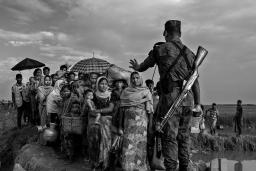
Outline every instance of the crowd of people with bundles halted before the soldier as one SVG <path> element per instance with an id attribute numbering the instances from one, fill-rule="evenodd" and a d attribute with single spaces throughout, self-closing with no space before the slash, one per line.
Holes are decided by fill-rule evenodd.
<path id="1" fill-rule="evenodd" d="M 154 82 L 138 72 L 131 73 L 130 82 L 117 79 L 110 85 L 104 75 L 68 72 L 66 66 L 50 75 L 50 68 L 34 70 L 27 84 L 16 75 L 12 86 L 13 103 L 17 108 L 17 125 L 48 126 L 56 124 L 59 132 L 53 145 L 70 160 L 76 154 L 88 159 L 91 168 L 114 170 L 119 163 L 124 170 L 148 170 L 147 137 L 152 134 L 154 104 L 158 101 Z M 128 86 L 129 85 L 129 86 Z M 62 117 L 80 117 L 82 134 L 63 131 Z M 123 135 L 122 160 L 113 162 L 110 150 L 116 136 Z M 113 156 L 112 156 L 113 157 Z"/>

